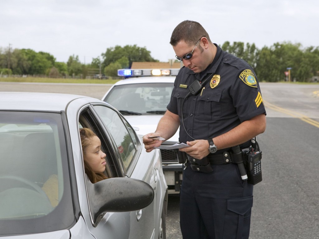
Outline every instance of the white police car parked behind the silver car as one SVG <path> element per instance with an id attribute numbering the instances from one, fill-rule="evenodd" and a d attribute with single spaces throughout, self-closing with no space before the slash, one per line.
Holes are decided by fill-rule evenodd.
<path id="1" fill-rule="evenodd" d="M 175 76 L 130 77 L 116 82 L 102 100 L 119 110 L 138 134 L 145 135 L 155 132 L 160 118 L 166 112 L 174 80 Z M 160 149 L 169 194 L 179 193 L 183 169 L 174 149 L 164 147 L 177 143 L 178 135 L 179 130 L 163 142 Z"/>

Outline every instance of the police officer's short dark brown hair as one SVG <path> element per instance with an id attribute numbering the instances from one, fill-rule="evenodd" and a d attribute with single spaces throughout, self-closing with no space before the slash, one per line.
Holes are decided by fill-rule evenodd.
<path id="1" fill-rule="evenodd" d="M 175 27 L 169 43 L 172 46 L 176 46 L 177 43 L 184 40 L 186 43 L 193 45 L 203 36 L 206 36 L 208 41 L 211 42 L 208 33 L 202 25 L 195 21 L 185 20 Z"/>

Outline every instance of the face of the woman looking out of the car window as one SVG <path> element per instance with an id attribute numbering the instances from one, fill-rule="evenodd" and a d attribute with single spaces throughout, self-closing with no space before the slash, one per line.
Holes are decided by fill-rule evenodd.
<path id="1" fill-rule="evenodd" d="M 106 154 L 101 150 L 101 141 L 99 137 L 93 136 L 91 144 L 86 148 L 84 152 L 84 160 L 90 165 L 93 172 L 102 173 L 105 170 Z"/>

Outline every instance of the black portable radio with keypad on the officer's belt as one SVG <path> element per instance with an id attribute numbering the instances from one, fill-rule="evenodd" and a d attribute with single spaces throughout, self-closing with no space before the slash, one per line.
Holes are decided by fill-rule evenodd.
<path id="1" fill-rule="evenodd" d="M 246 171 L 248 176 L 248 183 L 256 185 L 263 180 L 261 172 L 261 158 L 262 151 L 255 140 L 252 140 L 252 149 L 247 152 Z"/>

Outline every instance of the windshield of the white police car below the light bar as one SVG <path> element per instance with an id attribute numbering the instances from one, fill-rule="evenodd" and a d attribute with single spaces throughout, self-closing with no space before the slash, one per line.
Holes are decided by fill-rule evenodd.
<path id="1" fill-rule="evenodd" d="M 114 86 L 105 102 L 123 115 L 164 114 L 174 83 L 140 83 Z"/>

